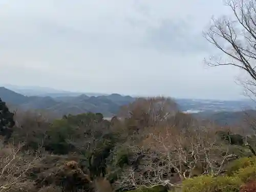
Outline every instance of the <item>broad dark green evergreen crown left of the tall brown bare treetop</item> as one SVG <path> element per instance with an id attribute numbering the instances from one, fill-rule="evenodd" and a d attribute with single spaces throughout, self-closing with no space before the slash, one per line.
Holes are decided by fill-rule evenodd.
<path id="1" fill-rule="evenodd" d="M 102 139 L 108 126 L 103 120 L 103 115 L 99 113 L 63 116 L 62 119 L 55 120 L 47 132 L 46 148 L 55 154 L 67 154 L 72 151 L 85 153 L 89 148 L 91 151 L 95 140 Z"/>

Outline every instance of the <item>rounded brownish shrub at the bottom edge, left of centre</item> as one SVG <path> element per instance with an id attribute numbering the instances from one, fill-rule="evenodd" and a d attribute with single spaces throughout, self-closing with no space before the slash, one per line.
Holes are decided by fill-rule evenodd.
<path id="1" fill-rule="evenodd" d="M 90 176 L 83 172 L 76 161 L 68 160 L 65 156 L 48 155 L 34 167 L 33 173 L 38 186 L 56 186 L 63 191 L 91 191 Z"/>

